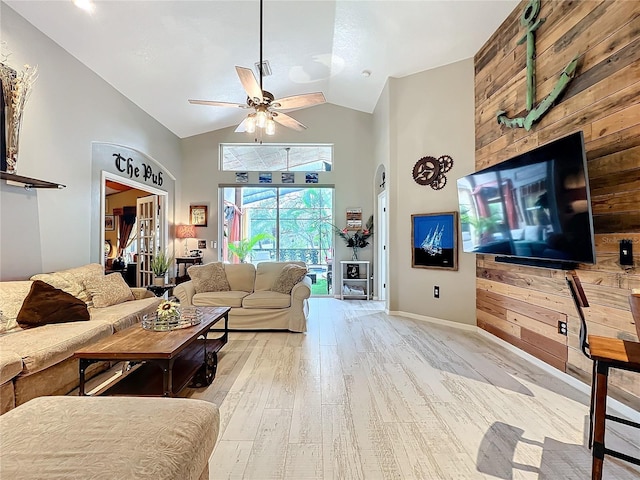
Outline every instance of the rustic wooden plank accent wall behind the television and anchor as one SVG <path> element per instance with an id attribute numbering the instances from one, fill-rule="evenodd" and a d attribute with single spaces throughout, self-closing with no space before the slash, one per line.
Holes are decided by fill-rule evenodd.
<path id="1" fill-rule="evenodd" d="M 638 340 L 629 311 L 640 288 L 640 2 L 542 0 L 536 33 L 536 104 L 560 72 L 580 55 L 564 96 L 530 131 L 506 128 L 496 112 L 525 112 L 526 46 L 522 1 L 475 56 L 476 169 L 582 130 L 587 150 L 596 233 L 595 265 L 578 276 L 591 308 L 589 333 Z M 619 241 L 634 243 L 634 268 L 619 265 Z M 495 262 L 477 256 L 477 322 L 488 332 L 582 380 L 591 362 L 579 349 L 580 324 L 564 272 Z M 568 336 L 557 332 L 568 321 Z M 640 406 L 640 378 L 616 371 L 612 394 Z"/>

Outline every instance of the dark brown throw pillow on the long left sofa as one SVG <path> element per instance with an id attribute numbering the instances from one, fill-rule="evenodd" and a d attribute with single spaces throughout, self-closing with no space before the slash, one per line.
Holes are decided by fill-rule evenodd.
<path id="1" fill-rule="evenodd" d="M 73 295 L 34 280 L 16 318 L 22 328 L 89 320 L 87 304 Z"/>

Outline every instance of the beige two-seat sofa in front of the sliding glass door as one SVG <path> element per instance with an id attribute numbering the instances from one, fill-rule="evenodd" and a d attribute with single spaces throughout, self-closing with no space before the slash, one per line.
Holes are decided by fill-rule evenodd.
<path id="1" fill-rule="evenodd" d="M 181 305 L 231 307 L 230 329 L 306 332 L 311 280 L 305 276 L 289 295 L 271 290 L 287 264 L 306 267 L 302 262 L 261 262 L 257 267 L 251 263 L 224 264 L 231 290 L 196 293 L 190 280 L 174 288 L 173 294 Z"/>

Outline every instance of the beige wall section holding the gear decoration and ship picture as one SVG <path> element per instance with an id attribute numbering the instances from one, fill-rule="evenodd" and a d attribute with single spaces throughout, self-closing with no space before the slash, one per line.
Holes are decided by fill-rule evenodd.
<path id="1" fill-rule="evenodd" d="M 411 268 L 411 215 L 458 210 L 456 179 L 474 171 L 473 59 L 389 86 L 389 309 L 475 324 L 475 256 L 460 251 L 459 232 L 458 271 Z M 412 179 L 415 162 L 427 155 L 454 160 L 442 190 Z"/>

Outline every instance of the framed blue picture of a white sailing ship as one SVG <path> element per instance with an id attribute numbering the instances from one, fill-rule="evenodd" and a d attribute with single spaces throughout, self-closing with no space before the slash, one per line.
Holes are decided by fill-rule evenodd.
<path id="1" fill-rule="evenodd" d="M 411 267 L 458 270 L 458 212 L 411 215 Z"/>

